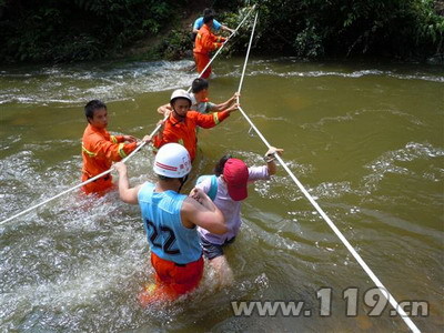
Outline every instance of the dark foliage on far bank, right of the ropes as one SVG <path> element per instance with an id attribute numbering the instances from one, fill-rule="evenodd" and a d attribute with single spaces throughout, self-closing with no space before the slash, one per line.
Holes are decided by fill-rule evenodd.
<path id="1" fill-rule="evenodd" d="M 223 1 L 223 6 L 226 7 L 228 2 L 232 9 L 239 6 L 239 1 Z M 306 58 L 361 54 L 402 59 L 441 57 L 443 61 L 444 1 L 246 2 L 260 8 L 256 48 L 263 51 Z"/>

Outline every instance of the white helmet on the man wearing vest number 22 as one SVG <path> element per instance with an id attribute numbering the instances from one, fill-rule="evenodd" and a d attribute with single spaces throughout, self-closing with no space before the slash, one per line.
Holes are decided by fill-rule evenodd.
<path id="1" fill-rule="evenodd" d="M 182 178 L 191 171 L 190 154 L 179 143 L 167 143 L 159 149 L 153 170 L 168 178 Z"/>

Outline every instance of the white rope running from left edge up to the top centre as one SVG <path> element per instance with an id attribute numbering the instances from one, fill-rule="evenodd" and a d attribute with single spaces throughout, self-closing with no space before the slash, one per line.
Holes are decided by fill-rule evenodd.
<path id="1" fill-rule="evenodd" d="M 222 44 L 222 47 L 218 50 L 218 52 L 215 52 L 215 54 L 213 56 L 213 58 L 211 58 L 210 62 L 209 62 L 209 63 L 206 64 L 206 67 L 202 70 L 202 72 L 199 74 L 199 78 L 202 77 L 202 74 L 205 72 L 205 70 L 209 68 L 209 65 L 210 65 L 210 64 L 213 62 L 213 60 L 219 56 L 219 53 L 221 52 L 221 50 L 223 49 L 223 47 L 226 44 L 226 42 L 236 33 L 236 31 L 239 30 L 239 28 L 241 28 L 241 26 L 243 24 L 243 22 L 245 22 L 246 18 L 252 13 L 252 11 L 254 10 L 254 8 L 255 8 L 255 4 L 250 9 L 250 11 L 249 11 L 249 12 L 246 13 L 246 16 L 243 18 L 243 20 L 239 23 L 238 28 L 230 34 L 230 37 L 229 37 L 229 38 L 226 39 L 226 41 Z M 188 89 L 188 92 L 190 92 L 190 90 L 191 90 L 191 87 Z M 167 118 L 163 119 L 162 123 L 163 123 L 165 120 L 167 120 Z M 152 131 L 152 133 L 150 134 L 150 137 L 153 137 L 153 135 L 160 130 L 160 128 L 162 127 L 162 123 L 160 123 L 160 124 L 158 124 L 158 125 L 155 127 L 154 131 Z M 142 147 L 145 145 L 145 144 L 147 144 L 147 142 L 142 142 L 134 151 L 132 151 L 127 158 L 124 158 L 124 159 L 122 160 L 122 162 L 123 162 L 123 163 L 127 162 L 131 157 L 134 155 L 135 152 L 138 152 L 140 149 L 142 149 Z M 44 200 L 44 201 L 42 201 L 42 202 L 40 202 L 40 203 L 33 205 L 33 206 L 30 206 L 29 209 L 26 209 L 24 211 L 21 211 L 20 213 L 17 213 L 16 215 L 12 215 L 12 216 L 10 216 L 10 218 L 8 218 L 8 219 L 1 221 L 1 222 L 0 222 L 0 225 L 7 223 L 7 222 L 9 222 L 9 221 L 11 221 L 11 220 L 13 220 L 13 219 L 16 219 L 16 218 L 18 218 L 18 216 L 21 216 L 21 215 L 23 215 L 23 214 L 26 214 L 26 213 L 28 213 L 28 212 L 30 212 L 30 211 L 32 211 L 32 210 L 34 210 L 34 209 L 37 209 L 37 208 L 43 205 L 43 204 L 46 204 L 46 203 L 48 203 L 48 202 L 50 202 L 50 201 L 52 201 L 52 200 L 54 200 L 54 199 L 57 199 L 57 198 L 59 198 L 59 196 L 62 196 L 63 194 L 67 194 L 67 193 L 69 193 L 69 192 L 72 192 L 72 191 L 74 191 L 74 190 L 77 190 L 77 189 L 79 189 L 79 188 L 85 185 L 85 184 L 89 184 L 89 183 L 91 183 L 91 182 L 98 180 L 99 178 L 101 178 L 101 176 L 103 176 L 103 175 L 105 175 L 105 174 L 111 173 L 112 170 L 113 170 L 113 167 L 111 167 L 109 170 L 107 170 L 107 171 L 104 171 L 104 172 L 102 172 L 102 173 L 100 173 L 100 174 L 98 174 L 98 175 L 95 175 L 95 176 L 93 176 L 93 178 L 91 178 L 91 179 L 89 179 L 89 180 L 87 180 L 87 181 L 84 181 L 84 182 L 82 182 L 82 183 L 80 183 L 80 184 L 73 186 L 73 188 L 70 188 L 70 189 L 68 189 L 68 190 L 65 190 L 65 191 L 63 191 L 63 192 L 61 192 L 61 193 L 59 193 L 59 194 L 57 194 L 57 195 L 54 195 L 54 196 L 51 196 L 51 198 L 49 198 L 49 199 L 47 199 L 47 200 Z"/>

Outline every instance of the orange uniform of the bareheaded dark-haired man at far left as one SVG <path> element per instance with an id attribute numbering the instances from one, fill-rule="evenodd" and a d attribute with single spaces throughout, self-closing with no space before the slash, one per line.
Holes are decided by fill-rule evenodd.
<path id="1" fill-rule="evenodd" d="M 105 129 L 88 124 L 82 138 L 82 182 L 111 168 L 137 148 L 137 142 L 123 143 L 123 135 L 111 135 Z M 112 188 L 112 176 L 107 174 L 82 186 L 83 192 L 98 193 Z"/>

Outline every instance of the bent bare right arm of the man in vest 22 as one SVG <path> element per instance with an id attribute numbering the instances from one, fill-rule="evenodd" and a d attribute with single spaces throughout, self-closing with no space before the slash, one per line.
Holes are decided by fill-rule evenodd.
<path id="1" fill-rule="evenodd" d="M 199 225 L 215 234 L 225 233 L 228 229 L 222 212 L 202 190 L 193 191 L 193 198 L 186 198 L 183 202 L 182 223 L 188 228 Z"/>

